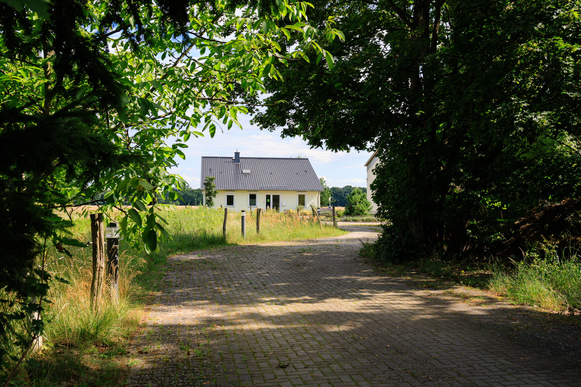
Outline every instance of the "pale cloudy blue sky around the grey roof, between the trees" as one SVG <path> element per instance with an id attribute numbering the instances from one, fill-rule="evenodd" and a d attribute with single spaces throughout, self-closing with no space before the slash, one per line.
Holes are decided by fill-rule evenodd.
<path id="1" fill-rule="evenodd" d="M 191 136 L 188 148 L 182 149 L 185 160 L 177 158 L 178 168 L 172 173 L 182 176 L 192 188 L 200 187 L 200 163 L 202 156 L 233 157 L 238 149 L 241 157 L 297 157 L 298 154 L 308 157 L 319 177 L 327 180 L 329 187 L 345 185 L 365 187 L 367 169 L 363 166 L 371 153 L 350 151 L 335 153 L 322 149 L 309 149 L 300 138 L 282 139 L 280 131 L 261 131 L 250 124 L 249 115 L 239 115 L 243 130 L 233 125 L 224 133 L 218 131 L 214 138 L 204 132 L 204 138 Z M 225 126 L 225 125 L 224 125 Z"/>

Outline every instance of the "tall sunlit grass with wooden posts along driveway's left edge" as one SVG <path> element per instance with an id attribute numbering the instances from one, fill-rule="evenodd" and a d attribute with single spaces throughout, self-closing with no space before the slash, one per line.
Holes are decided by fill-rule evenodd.
<path id="1" fill-rule="evenodd" d="M 132 365 L 126 353 L 128 339 L 139 327 L 145 296 L 157 288 L 162 266 L 169 256 L 220 245 L 254 244 L 338 236 L 347 232 L 316 223 L 309 214 L 281 215 L 266 211 L 261 216 L 260 233 L 256 233 L 256 213 L 246 216 L 246 239 L 241 234 L 241 216 L 230 212 L 227 235 L 223 238 L 223 210 L 186 208 L 163 211 L 167 232 L 172 236 L 160 245 L 158 252 L 145 254 L 120 243 L 119 298 L 112 301 L 103 293 L 98 310 L 89 305 L 92 280 L 92 248 L 70 248 L 72 258 L 56 249 L 48 251 L 46 269 L 66 278 L 70 284 L 53 282 L 45 303 L 43 319 L 47 321 L 44 348 L 30 356 L 21 366 L 14 382 L 34 387 L 60 386 L 63 382 L 82 386 L 116 386 L 123 384 Z M 72 216 L 70 236 L 90 241 L 90 223 L 78 214 Z M 120 219 L 117 219 L 120 220 Z M 0 294 L 2 298 L 9 295 Z M 16 327 L 23 331 L 24 326 Z M 18 354 L 18 348 L 14 348 Z M 12 363 L 15 364 L 15 363 Z M 31 366 L 32 365 L 32 366 Z M 6 371 L 6 370 L 5 370 Z"/>

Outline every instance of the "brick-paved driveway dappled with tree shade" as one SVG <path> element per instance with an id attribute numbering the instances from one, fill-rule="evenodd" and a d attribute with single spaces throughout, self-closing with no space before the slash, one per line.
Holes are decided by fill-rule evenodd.
<path id="1" fill-rule="evenodd" d="M 377 276 L 350 229 L 171 258 L 127 385 L 581 386 L 578 328 Z"/>

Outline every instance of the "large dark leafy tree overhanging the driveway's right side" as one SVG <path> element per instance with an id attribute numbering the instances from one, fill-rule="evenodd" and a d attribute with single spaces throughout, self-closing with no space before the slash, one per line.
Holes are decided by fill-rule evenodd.
<path id="1" fill-rule="evenodd" d="M 510 220 L 581 194 L 579 1 L 325 4 L 309 20 L 340 15 L 335 65 L 290 66 L 265 99 L 288 103 L 254 121 L 379 151 L 383 258 L 496 254 Z"/>

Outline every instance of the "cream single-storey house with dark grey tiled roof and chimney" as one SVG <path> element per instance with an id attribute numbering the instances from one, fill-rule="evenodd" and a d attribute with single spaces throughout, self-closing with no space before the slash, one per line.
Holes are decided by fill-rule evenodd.
<path id="1" fill-rule="evenodd" d="M 201 188 L 206 204 L 204 180 L 214 176 L 218 194 L 214 208 L 235 211 L 253 208 L 296 210 L 320 207 L 321 181 L 308 158 L 202 157 Z"/>

